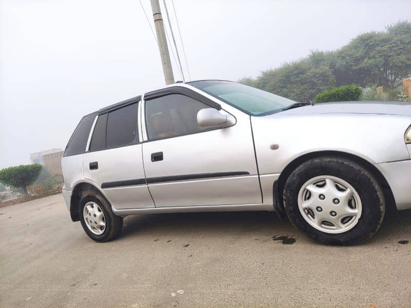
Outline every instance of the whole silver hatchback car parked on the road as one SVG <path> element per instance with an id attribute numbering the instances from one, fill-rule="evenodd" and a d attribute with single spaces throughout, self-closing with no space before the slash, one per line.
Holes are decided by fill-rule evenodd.
<path id="1" fill-rule="evenodd" d="M 95 241 L 123 217 L 276 211 L 358 244 L 411 208 L 411 105 L 297 103 L 234 82 L 177 83 L 85 115 L 62 159 L 73 221 Z"/>

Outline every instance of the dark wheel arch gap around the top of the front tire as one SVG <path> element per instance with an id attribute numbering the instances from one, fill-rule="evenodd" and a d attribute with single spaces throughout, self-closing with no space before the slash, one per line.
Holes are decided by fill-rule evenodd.
<path id="1" fill-rule="evenodd" d="M 278 215 L 280 217 L 285 216 L 285 211 L 284 211 L 284 204 L 282 200 L 282 190 L 284 189 L 285 182 L 289 178 L 289 176 L 292 174 L 292 172 L 303 162 L 313 159 L 313 158 L 320 158 L 320 157 L 339 157 L 339 158 L 344 158 L 344 159 L 349 159 L 352 160 L 353 162 L 361 165 L 365 169 L 367 169 L 371 174 L 376 178 L 378 184 L 381 186 L 384 194 L 384 199 L 385 199 L 385 204 L 386 204 L 386 210 L 388 211 L 394 211 L 397 210 L 396 204 L 395 204 L 395 199 L 394 199 L 394 194 L 392 194 L 391 187 L 389 186 L 387 180 L 381 173 L 381 171 L 371 164 L 369 161 L 366 159 L 353 155 L 351 153 L 347 152 L 342 152 L 342 151 L 333 151 L 333 150 L 325 150 L 325 151 L 315 151 L 315 152 L 310 152 L 306 153 L 304 155 L 301 155 L 294 160 L 292 160 L 285 168 L 281 171 L 280 176 L 278 177 L 278 180 L 274 183 L 274 208 L 277 211 Z"/>

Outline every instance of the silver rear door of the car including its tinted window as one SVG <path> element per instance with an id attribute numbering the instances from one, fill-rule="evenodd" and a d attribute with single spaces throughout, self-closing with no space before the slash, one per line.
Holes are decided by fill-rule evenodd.
<path id="1" fill-rule="evenodd" d="M 100 110 L 84 154 L 84 178 L 95 182 L 115 209 L 154 207 L 138 138 L 139 99 Z"/>

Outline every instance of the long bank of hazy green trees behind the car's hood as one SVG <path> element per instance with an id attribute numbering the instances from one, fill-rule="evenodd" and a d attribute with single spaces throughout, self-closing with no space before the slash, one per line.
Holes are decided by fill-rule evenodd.
<path id="1" fill-rule="evenodd" d="M 388 91 L 398 87 L 410 73 L 411 23 L 402 21 L 383 32 L 358 35 L 336 51 L 312 51 L 304 59 L 239 82 L 305 101 L 321 91 L 350 84 L 384 86 Z"/>

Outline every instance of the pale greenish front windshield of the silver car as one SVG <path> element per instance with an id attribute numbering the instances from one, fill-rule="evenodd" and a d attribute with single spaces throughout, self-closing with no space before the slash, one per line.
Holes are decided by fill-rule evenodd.
<path id="1" fill-rule="evenodd" d="M 295 101 L 235 82 L 206 80 L 189 85 L 216 97 L 250 115 L 265 115 L 281 111 Z"/>

